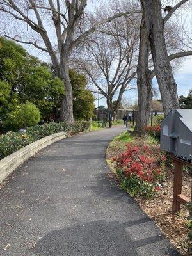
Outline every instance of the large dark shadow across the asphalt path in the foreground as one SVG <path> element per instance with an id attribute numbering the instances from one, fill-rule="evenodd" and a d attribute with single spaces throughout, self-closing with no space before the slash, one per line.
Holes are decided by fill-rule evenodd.
<path id="1" fill-rule="evenodd" d="M 150 219 L 143 218 L 123 224 L 99 220 L 54 230 L 42 237 L 33 248 L 32 253 L 36 256 L 137 256 L 140 255 L 138 248 L 141 246 L 156 244 L 155 248 L 157 248 L 159 243 L 166 239 L 164 236 L 156 235 L 132 241 L 125 228 L 147 221 Z M 162 253 L 162 256 L 167 253 L 168 255 L 177 255 L 172 248 Z M 150 255 L 156 255 L 156 252 L 153 250 L 146 256 Z"/>

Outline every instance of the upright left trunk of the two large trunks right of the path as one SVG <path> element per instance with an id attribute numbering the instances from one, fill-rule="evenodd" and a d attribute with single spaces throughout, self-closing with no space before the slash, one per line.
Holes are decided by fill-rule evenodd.
<path id="1" fill-rule="evenodd" d="M 140 49 L 137 67 L 137 87 L 138 87 L 138 113 L 136 117 L 136 127 L 134 133 L 145 134 L 150 109 L 152 104 L 152 80 L 148 70 L 149 44 L 145 26 L 145 18 L 142 16 L 140 26 Z"/>

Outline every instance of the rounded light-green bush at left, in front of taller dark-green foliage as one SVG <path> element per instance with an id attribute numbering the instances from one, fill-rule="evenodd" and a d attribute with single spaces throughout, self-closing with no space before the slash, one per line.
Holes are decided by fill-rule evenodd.
<path id="1" fill-rule="evenodd" d="M 20 104 L 17 109 L 8 113 L 5 126 L 13 131 L 24 129 L 28 126 L 38 124 L 40 121 L 40 111 L 31 102 Z"/>

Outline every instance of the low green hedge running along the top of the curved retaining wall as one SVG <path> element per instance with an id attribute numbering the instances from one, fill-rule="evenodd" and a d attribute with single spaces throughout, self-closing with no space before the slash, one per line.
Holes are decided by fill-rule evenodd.
<path id="1" fill-rule="evenodd" d="M 74 122 L 74 124 L 59 122 L 29 127 L 25 134 L 8 132 L 0 136 L 0 159 L 45 136 L 63 131 L 67 132 L 67 134 L 76 134 L 88 130 L 89 127 L 90 122 L 86 121 L 78 121 Z"/>

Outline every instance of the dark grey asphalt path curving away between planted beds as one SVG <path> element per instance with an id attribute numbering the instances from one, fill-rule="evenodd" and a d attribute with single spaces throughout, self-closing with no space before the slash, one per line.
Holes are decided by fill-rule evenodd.
<path id="1" fill-rule="evenodd" d="M 108 177 L 105 149 L 122 131 L 58 141 L 15 170 L 1 189 L 0 255 L 179 255 Z"/>

